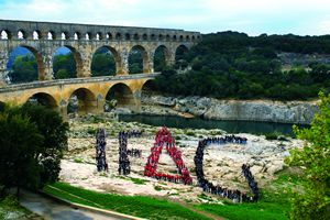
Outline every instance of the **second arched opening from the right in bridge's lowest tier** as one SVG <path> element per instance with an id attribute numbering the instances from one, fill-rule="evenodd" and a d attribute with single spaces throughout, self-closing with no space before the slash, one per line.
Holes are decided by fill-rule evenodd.
<path id="1" fill-rule="evenodd" d="M 97 98 L 96 96 L 86 88 L 79 88 L 75 90 L 67 105 L 67 113 L 94 113 L 97 110 Z"/>

